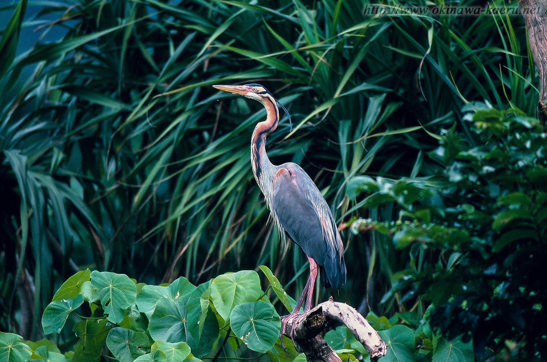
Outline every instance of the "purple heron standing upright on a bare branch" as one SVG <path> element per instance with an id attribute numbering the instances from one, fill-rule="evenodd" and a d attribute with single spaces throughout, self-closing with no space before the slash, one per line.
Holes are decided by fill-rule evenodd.
<path id="1" fill-rule="evenodd" d="M 277 128 L 280 120 L 275 97 L 260 84 L 213 87 L 257 100 L 266 108 L 266 120 L 259 122 L 253 131 L 251 165 L 281 234 L 286 233 L 300 246 L 310 261 L 310 277 L 289 316 L 299 313 L 306 296 L 304 312 L 309 311 L 318 271 L 324 288 L 337 289 L 346 284 L 342 240 L 333 214 L 315 183 L 299 165 L 287 162 L 277 166 L 266 154 L 266 136 Z M 287 112 L 285 107 L 283 110 Z"/>

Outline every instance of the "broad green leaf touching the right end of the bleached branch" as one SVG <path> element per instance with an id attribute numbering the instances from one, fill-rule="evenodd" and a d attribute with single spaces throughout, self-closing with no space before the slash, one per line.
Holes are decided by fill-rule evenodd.
<path id="1" fill-rule="evenodd" d="M 378 334 L 387 344 L 383 362 L 414 362 L 414 332 L 409 327 L 398 324 Z"/>

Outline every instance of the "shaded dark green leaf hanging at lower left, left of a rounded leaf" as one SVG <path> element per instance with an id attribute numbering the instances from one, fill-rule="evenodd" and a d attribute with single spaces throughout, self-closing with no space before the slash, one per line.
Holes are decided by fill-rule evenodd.
<path id="1" fill-rule="evenodd" d="M 74 355 L 71 362 L 98 362 L 106 341 L 108 331 L 112 326 L 107 326 L 106 318 L 86 319 L 74 325 L 73 331 L 80 337 L 74 347 Z"/>

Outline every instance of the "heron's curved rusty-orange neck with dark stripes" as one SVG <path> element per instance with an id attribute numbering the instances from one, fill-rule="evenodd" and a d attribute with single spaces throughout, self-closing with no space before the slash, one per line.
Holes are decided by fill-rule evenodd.
<path id="1" fill-rule="evenodd" d="M 266 136 L 277 128 L 279 110 L 275 100 L 267 98 L 262 103 L 266 107 L 267 117 L 264 122 L 258 123 L 257 127 L 254 128 L 251 139 L 251 165 L 254 178 L 257 180 L 262 193 L 264 193 L 266 201 L 270 203 L 271 188 L 277 169 L 266 154 Z"/>

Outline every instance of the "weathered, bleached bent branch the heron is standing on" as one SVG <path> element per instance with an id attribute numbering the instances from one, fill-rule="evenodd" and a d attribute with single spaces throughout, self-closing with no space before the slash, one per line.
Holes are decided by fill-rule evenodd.
<path id="1" fill-rule="evenodd" d="M 334 350 L 319 336 L 319 333 L 336 322 L 344 324 L 363 344 L 371 361 L 386 354 L 386 343 L 368 321 L 355 308 L 333 302 L 332 297 L 304 314 L 287 318 L 286 322 L 282 334 L 301 348 L 309 362 L 341 362 Z"/>

